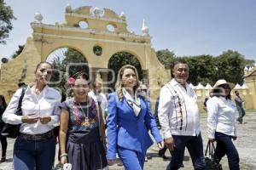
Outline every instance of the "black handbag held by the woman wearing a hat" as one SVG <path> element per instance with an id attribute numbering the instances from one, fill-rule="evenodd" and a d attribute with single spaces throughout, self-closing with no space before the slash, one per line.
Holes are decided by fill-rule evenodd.
<path id="1" fill-rule="evenodd" d="M 214 156 L 215 146 L 212 141 L 208 141 L 207 150 L 205 152 L 206 170 L 222 170 L 221 164 Z"/>

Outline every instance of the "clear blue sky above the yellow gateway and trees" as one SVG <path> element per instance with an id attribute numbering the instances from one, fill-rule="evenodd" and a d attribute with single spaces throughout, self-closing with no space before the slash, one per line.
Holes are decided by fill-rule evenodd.
<path id="1" fill-rule="evenodd" d="M 129 31 L 141 35 L 143 19 L 156 50 L 169 48 L 177 56 L 212 54 L 236 50 L 256 60 L 256 1 L 254 0 L 5 0 L 17 20 L 7 45 L 0 45 L 0 58 L 9 57 L 32 36 L 34 14 L 43 23 L 64 21 L 67 3 L 72 8 L 110 8 L 126 15 Z"/>

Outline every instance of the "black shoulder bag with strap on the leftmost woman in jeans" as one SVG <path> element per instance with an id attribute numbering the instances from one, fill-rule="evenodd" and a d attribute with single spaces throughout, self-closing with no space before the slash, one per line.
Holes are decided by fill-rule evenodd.
<path id="1" fill-rule="evenodd" d="M 21 103 L 22 103 L 22 99 L 24 97 L 25 91 L 26 91 L 26 87 L 22 88 L 20 99 L 19 99 L 19 104 L 18 104 L 17 110 L 15 112 L 15 114 L 17 116 L 22 115 Z M 3 129 L 1 131 L 1 135 L 6 138 L 15 139 L 15 138 L 17 138 L 19 131 L 20 131 L 20 124 L 13 125 L 13 124 L 5 123 L 3 126 Z"/>

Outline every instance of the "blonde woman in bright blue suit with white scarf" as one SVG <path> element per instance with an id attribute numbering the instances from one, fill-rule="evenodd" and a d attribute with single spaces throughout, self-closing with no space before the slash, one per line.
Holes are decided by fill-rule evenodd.
<path id="1" fill-rule="evenodd" d="M 118 153 L 126 170 L 143 169 L 146 151 L 153 144 L 148 130 L 160 149 L 164 145 L 147 101 L 136 93 L 139 85 L 136 68 L 124 65 L 116 92 L 108 95 L 108 164 L 113 165 Z"/>

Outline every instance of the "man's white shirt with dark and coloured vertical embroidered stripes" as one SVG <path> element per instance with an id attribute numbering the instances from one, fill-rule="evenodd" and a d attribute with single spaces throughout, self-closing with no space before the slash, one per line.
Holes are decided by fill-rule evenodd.
<path id="1" fill-rule="evenodd" d="M 195 136 L 200 133 L 196 100 L 189 84 L 186 83 L 185 89 L 174 78 L 161 88 L 158 116 L 164 139 L 172 135 Z"/>

